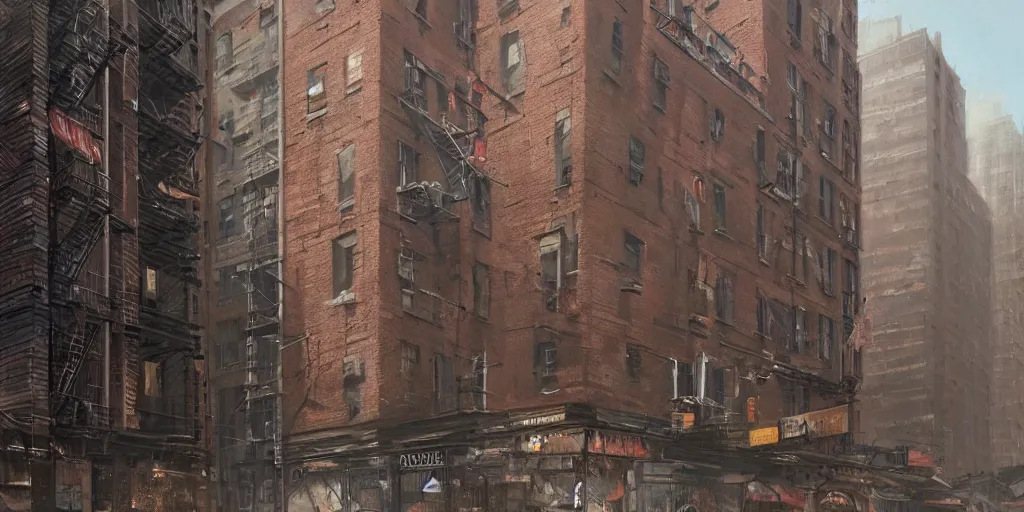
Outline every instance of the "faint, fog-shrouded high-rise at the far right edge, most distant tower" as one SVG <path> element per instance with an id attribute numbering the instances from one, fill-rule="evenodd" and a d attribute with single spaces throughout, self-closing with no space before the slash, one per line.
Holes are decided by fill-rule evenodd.
<path id="1" fill-rule="evenodd" d="M 1024 137 L 998 100 L 969 102 L 971 180 L 992 214 L 992 454 L 1024 462 Z"/>

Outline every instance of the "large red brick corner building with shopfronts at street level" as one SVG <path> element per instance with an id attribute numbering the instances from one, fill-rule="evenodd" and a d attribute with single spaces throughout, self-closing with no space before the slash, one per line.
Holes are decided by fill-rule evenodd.
<path id="1" fill-rule="evenodd" d="M 547 463 L 459 461 L 524 447 L 849 444 L 856 5 L 682 3 L 286 0 L 289 510 L 513 503 Z M 622 499 L 567 460 L 548 498 Z"/>

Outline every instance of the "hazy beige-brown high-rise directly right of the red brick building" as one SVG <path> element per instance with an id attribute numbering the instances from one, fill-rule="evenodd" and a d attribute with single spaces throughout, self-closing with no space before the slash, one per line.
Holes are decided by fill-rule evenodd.
<path id="1" fill-rule="evenodd" d="M 968 177 L 965 92 L 938 34 L 862 27 L 879 42 L 860 55 L 863 441 L 929 451 L 949 475 L 988 470 L 992 231 Z"/>

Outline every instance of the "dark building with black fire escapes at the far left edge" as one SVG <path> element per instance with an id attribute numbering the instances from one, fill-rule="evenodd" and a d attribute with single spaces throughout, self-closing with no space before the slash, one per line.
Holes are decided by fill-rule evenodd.
<path id="1" fill-rule="evenodd" d="M 0 4 L 0 510 L 202 510 L 193 0 Z"/>

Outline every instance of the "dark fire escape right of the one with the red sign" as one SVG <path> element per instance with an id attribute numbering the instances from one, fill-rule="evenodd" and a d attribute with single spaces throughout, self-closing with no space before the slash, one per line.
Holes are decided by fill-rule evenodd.
<path id="1" fill-rule="evenodd" d="M 197 8 L 191 0 L 139 0 L 138 6 L 138 356 L 147 367 L 147 389 L 138 400 L 139 426 L 196 441 L 201 416 L 193 360 L 200 349 L 195 309 L 196 290 L 202 285 L 196 211 L 196 154 L 201 143 L 196 126 L 202 105 L 196 93 L 203 87 Z M 151 379 L 157 382 L 153 390 Z"/>

